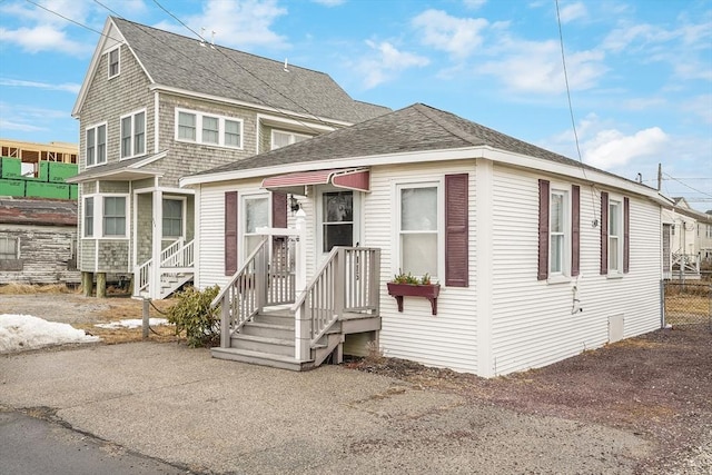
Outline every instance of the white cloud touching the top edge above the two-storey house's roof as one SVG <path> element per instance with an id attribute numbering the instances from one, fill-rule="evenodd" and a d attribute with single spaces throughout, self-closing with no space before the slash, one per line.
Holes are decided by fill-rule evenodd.
<path id="1" fill-rule="evenodd" d="M 245 49 L 253 46 L 285 48 L 286 38 L 271 30 L 271 23 L 287 13 L 276 0 L 207 0 L 202 13 L 181 20 L 194 31 L 211 40 L 215 31 L 216 44 Z M 189 34 L 182 26 L 161 22 L 156 28 Z"/>

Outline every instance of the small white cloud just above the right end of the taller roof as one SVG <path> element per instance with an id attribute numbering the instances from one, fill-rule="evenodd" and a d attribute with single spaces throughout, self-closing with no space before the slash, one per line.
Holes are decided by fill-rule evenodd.
<path id="1" fill-rule="evenodd" d="M 398 51 L 388 41 L 376 43 L 368 40 L 366 44 L 372 48 L 375 55 L 363 58 L 356 66 L 364 76 L 366 89 L 375 88 L 408 68 L 424 67 L 429 63 L 429 60 L 423 56 Z"/>

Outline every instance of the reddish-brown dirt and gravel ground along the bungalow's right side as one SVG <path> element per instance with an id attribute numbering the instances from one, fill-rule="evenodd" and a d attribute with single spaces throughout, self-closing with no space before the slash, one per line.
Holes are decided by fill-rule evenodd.
<path id="1" fill-rule="evenodd" d="M 662 329 L 493 379 L 397 358 L 347 365 L 527 414 L 595 422 L 643 435 L 657 445 L 660 455 L 642 461 L 640 473 L 670 473 L 701 446 L 709 451 L 712 331 L 708 326 Z"/>

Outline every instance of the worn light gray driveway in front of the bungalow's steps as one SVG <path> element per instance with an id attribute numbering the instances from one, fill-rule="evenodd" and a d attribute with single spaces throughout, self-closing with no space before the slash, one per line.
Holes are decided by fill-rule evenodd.
<path id="1" fill-rule="evenodd" d="M 176 344 L 0 356 L 0 406 L 53 408 L 77 431 L 194 473 L 625 474 L 651 451 L 630 433 L 397 379 L 290 373 Z"/>

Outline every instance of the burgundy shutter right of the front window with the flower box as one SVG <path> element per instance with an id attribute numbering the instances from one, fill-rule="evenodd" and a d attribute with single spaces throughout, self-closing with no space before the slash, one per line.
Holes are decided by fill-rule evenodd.
<path id="1" fill-rule="evenodd" d="M 445 175 L 445 285 L 469 285 L 468 175 Z"/>

